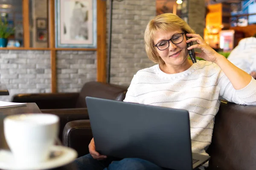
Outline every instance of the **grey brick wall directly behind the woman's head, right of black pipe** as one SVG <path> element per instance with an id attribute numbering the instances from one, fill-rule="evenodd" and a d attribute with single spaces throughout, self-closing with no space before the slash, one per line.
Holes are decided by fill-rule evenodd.
<path id="1" fill-rule="evenodd" d="M 111 83 L 130 85 L 138 70 L 154 65 L 145 53 L 143 34 L 155 15 L 155 0 L 113 1 Z"/>

